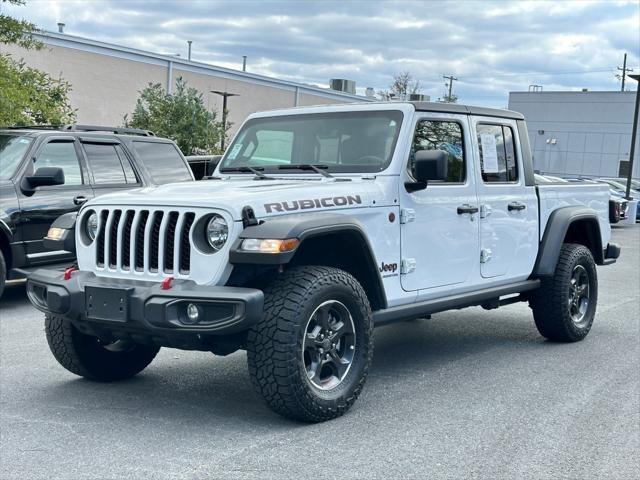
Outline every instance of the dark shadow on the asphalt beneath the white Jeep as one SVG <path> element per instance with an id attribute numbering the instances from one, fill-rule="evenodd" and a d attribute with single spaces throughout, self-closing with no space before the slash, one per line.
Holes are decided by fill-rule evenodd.
<path id="1" fill-rule="evenodd" d="M 474 316 L 458 313 L 455 318 L 448 315 L 443 320 L 407 322 L 376 330 L 374 363 L 365 394 L 384 388 L 391 381 L 425 381 L 430 371 L 435 373 L 446 368 L 447 363 L 465 357 L 472 362 L 474 356 L 486 350 L 534 350 L 547 343 L 522 322 L 502 318 L 497 328 L 495 319 L 473 322 Z M 190 353 L 187 360 L 182 360 L 182 352 L 176 350 L 174 363 L 169 357 L 171 353 L 163 352 L 161 361 L 156 360 L 131 380 L 119 383 L 64 380 L 65 373 L 61 370 L 60 381 L 49 383 L 40 393 L 49 405 L 133 415 L 144 412 L 149 418 L 210 428 L 231 426 L 234 422 L 287 429 L 304 426 L 275 415 L 254 393 L 243 352 L 229 357 Z"/>

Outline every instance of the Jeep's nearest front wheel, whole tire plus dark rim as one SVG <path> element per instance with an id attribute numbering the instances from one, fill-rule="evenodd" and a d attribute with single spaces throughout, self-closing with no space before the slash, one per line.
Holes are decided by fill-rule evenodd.
<path id="1" fill-rule="evenodd" d="M 249 374 L 280 415 L 321 422 L 355 402 L 373 356 L 371 307 L 350 274 L 294 267 L 265 290 L 247 339 Z"/>

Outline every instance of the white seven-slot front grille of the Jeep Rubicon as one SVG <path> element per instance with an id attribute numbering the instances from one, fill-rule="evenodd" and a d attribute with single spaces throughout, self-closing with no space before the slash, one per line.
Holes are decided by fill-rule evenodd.
<path id="1" fill-rule="evenodd" d="M 105 209 L 98 218 L 99 268 L 107 265 L 111 270 L 189 274 L 193 212 Z"/>

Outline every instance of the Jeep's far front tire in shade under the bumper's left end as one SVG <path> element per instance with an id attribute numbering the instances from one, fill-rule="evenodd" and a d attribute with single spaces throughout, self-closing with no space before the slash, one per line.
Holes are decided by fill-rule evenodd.
<path id="1" fill-rule="evenodd" d="M 71 373 L 110 382 L 133 377 L 151 363 L 160 347 L 129 344 L 121 351 L 105 348 L 98 338 L 81 333 L 69 320 L 46 315 L 45 331 L 51 353 Z"/>

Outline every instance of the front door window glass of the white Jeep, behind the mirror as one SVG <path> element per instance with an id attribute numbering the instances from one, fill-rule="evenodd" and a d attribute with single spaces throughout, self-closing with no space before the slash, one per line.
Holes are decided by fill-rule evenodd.
<path id="1" fill-rule="evenodd" d="M 420 120 L 411 144 L 409 172 L 420 150 L 443 150 L 447 154 L 447 183 L 463 183 L 466 177 L 462 125 L 442 120 Z"/>

